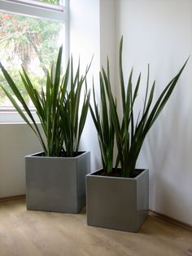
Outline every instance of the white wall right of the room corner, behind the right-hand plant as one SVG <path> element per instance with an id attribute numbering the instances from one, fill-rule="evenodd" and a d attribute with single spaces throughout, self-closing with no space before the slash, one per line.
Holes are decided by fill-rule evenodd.
<path id="1" fill-rule="evenodd" d="M 156 80 L 157 97 L 192 53 L 192 1 L 120 0 L 116 10 L 117 41 L 124 35 L 124 71 L 133 66 L 136 74 L 142 71 L 145 82 L 147 64 L 151 64 L 151 82 Z M 192 60 L 137 161 L 138 167 L 150 170 L 150 209 L 190 225 L 191 70 Z"/>

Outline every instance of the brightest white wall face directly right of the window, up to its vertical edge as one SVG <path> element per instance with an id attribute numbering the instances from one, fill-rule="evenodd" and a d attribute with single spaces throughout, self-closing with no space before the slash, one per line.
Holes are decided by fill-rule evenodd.
<path id="1" fill-rule="evenodd" d="M 81 71 L 90 63 L 94 55 L 88 74 L 88 86 L 92 88 L 92 77 L 98 81 L 100 68 L 100 27 L 98 0 L 70 1 L 70 52 L 78 61 L 81 59 Z M 88 114 L 85 130 L 81 138 L 80 149 L 91 152 L 91 170 L 101 166 L 98 149 L 98 139 L 93 121 Z"/>

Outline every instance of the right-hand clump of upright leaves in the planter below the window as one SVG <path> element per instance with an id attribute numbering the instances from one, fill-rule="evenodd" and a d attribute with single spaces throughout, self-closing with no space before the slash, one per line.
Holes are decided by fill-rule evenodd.
<path id="1" fill-rule="evenodd" d="M 71 56 L 68 61 L 65 77 L 63 77 L 62 80 L 63 88 L 60 95 L 61 99 L 63 99 L 63 104 L 60 104 L 60 119 L 63 132 L 64 152 L 67 157 L 73 157 L 78 151 L 82 131 L 85 127 L 90 97 L 90 92 L 86 91 L 86 86 L 84 87 L 87 73 L 88 69 L 86 68 L 85 74 L 80 74 L 80 60 L 76 71 L 74 71 Z M 82 99 L 83 89 L 85 89 L 85 95 Z"/>

